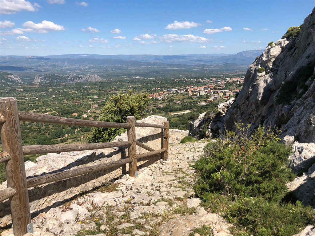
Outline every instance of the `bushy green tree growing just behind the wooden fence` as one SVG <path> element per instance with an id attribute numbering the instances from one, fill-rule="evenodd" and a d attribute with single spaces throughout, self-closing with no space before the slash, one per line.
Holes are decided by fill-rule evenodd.
<path id="1" fill-rule="evenodd" d="M 99 121 L 126 123 L 127 116 L 133 115 L 136 120 L 143 118 L 149 103 L 148 93 L 128 93 L 113 95 L 102 108 Z M 89 135 L 89 143 L 111 142 L 124 132 L 122 128 L 94 128 Z"/>

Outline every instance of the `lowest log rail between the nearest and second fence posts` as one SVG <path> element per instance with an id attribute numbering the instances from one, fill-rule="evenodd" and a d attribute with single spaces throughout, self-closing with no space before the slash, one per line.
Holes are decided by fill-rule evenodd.
<path id="1" fill-rule="evenodd" d="M 132 159 L 126 158 L 123 160 L 111 161 L 108 163 L 99 164 L 95 166 L 86 166 L 86 167 L 82 167 L 82 168 L 78 168 L 74 170 L 62 171 L 62 172 L 57 172 L 53 174 L 33 177 L 33 178 L 27 179 L 27 187 L 31 188 L 31 187 L 35 187 L 35 186 L 42 185 L 45 183 L 51 183 L 58 180 L 63 180 L 63 179 L 79 176 L 79 175 L 94 173 L 95 171 L 104 171 L 104 170 L 108 170 L 114 167 L 125 165 L 130 162 L 132 162 Z"/>

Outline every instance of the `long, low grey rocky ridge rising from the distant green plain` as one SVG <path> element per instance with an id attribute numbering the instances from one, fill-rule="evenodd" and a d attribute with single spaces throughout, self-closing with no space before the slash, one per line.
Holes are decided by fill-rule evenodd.
<path id="1" fill-rule="evenodd" d="M 76 82 L 99 82 L 106 79 L 97 75 L 59 75 L 42 74 L 35 76 L 34 84 L 39 83 L 76 83 Z"/>

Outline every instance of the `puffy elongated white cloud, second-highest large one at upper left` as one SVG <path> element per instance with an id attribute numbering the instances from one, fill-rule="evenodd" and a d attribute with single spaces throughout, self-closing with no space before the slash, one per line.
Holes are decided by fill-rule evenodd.
<path id="1" fill-rule="evenodd" d="M 20 29 L 22 31 L 31 31 L 36 33 L 47 33 L 48 31 L 63 31 L 65 27 L 57 25 L 54 22 L 43 20 L 42 23 L 34 23 L 32 21 L 26 21 L 23 24 L 26 29 Z"/>

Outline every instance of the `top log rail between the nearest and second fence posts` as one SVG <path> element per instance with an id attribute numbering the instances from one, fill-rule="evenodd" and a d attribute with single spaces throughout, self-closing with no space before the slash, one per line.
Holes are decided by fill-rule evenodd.
<path id="1" fill-rule="evenodd" d="M 20 121 L 41 122 L 57 125 L 72 125 L 85 127 L 102 127 L 102 128 L 129 128 L 126 123 L 114 123 L 104 121 L 86 121 L 80 119 L 66 118 L 54 115 L 43 115 L 30 112 L 19 111 Z"/>

